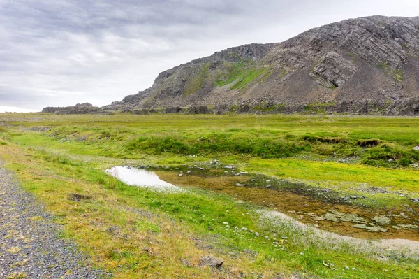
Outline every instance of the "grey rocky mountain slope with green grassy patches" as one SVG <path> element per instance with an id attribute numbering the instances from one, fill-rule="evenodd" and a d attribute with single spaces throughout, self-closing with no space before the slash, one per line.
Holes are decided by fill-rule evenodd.
<path id="1" fill-rule="evenodd" d="M 174 106 L 418 114 L 419 17 L 362 17 L 228 48 L 163 71 L 103 109 Z"/>

